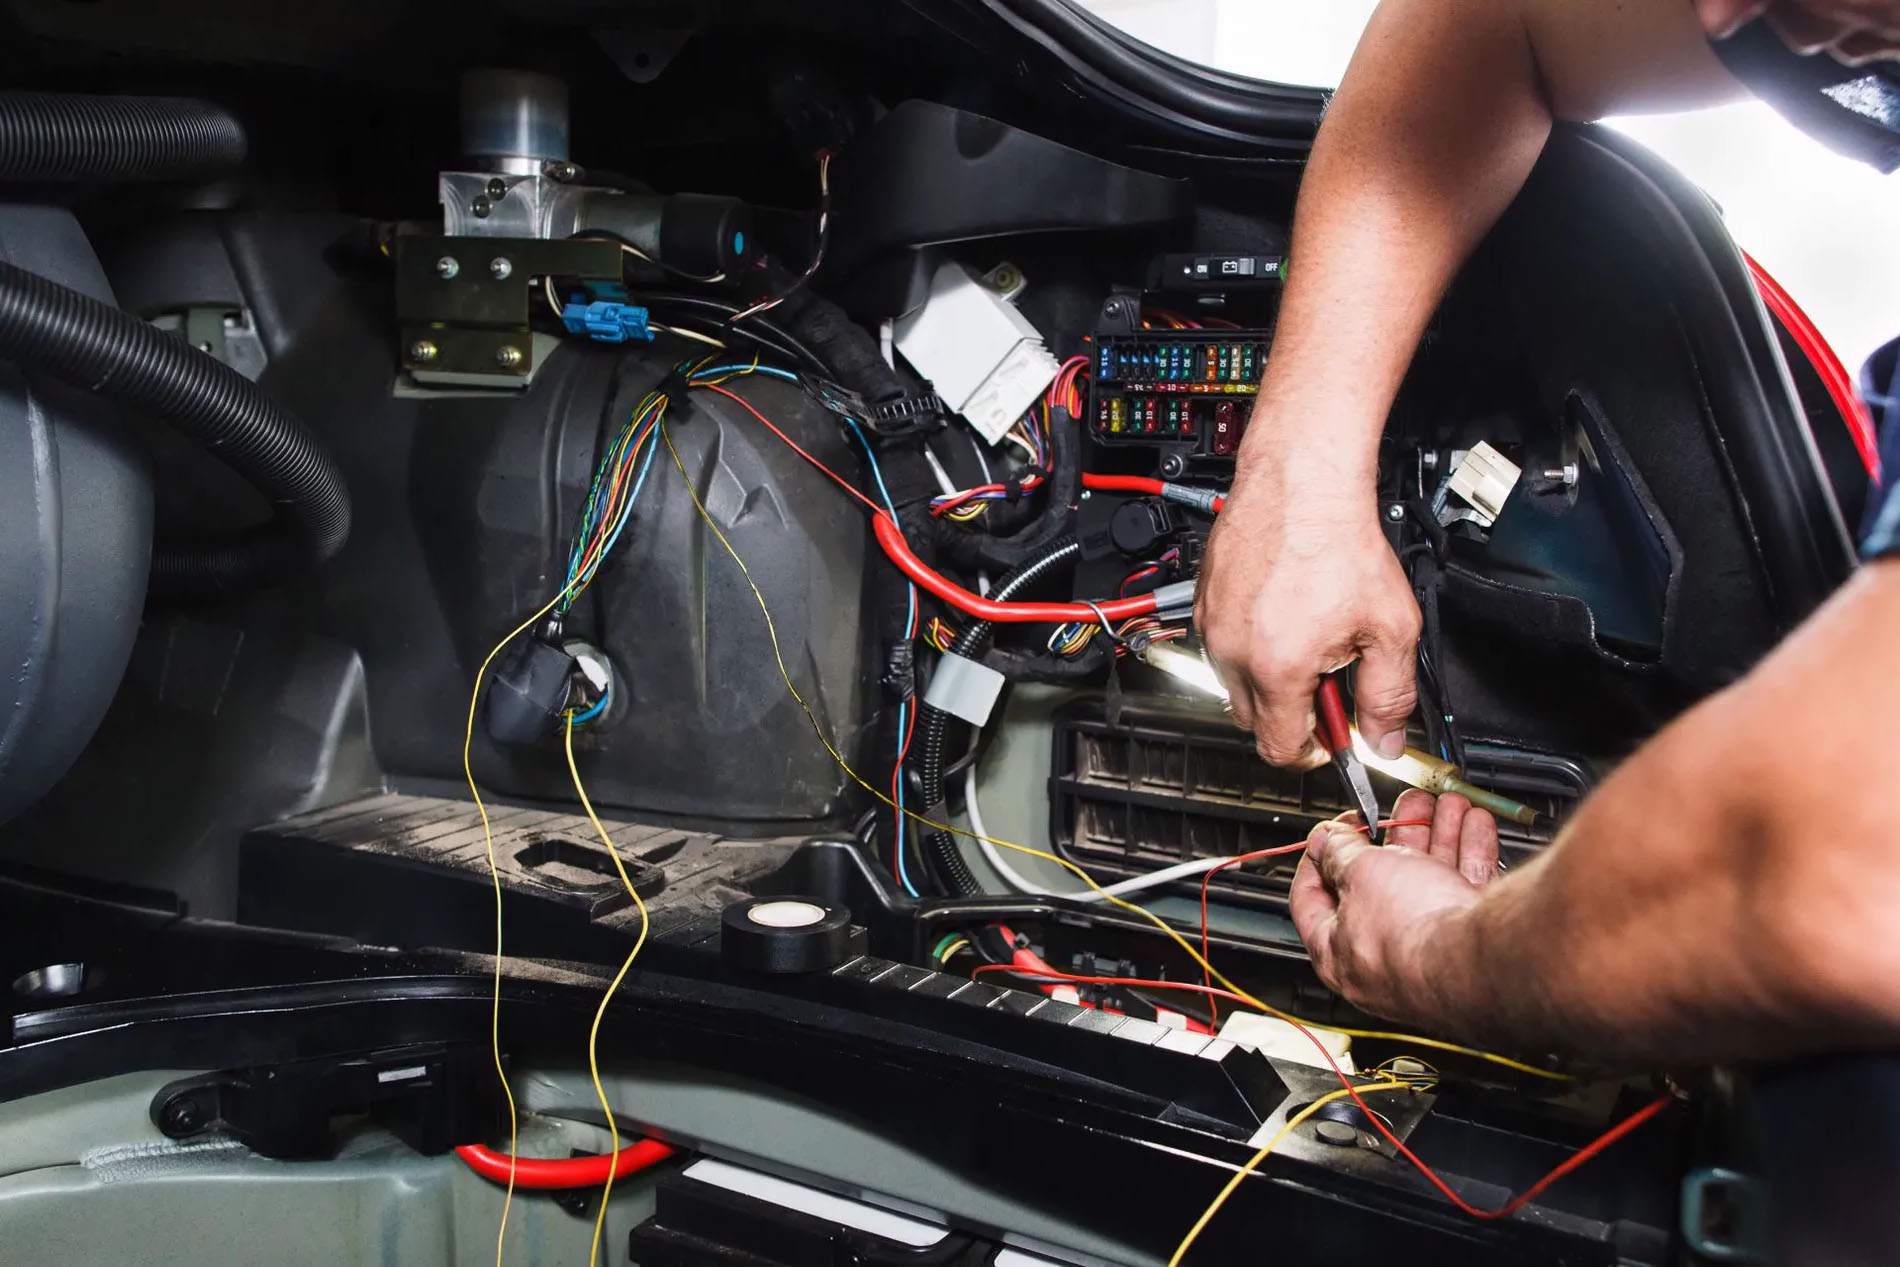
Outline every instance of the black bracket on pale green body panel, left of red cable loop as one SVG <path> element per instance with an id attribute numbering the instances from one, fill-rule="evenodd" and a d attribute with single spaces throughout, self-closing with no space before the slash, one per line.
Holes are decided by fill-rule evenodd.
<path id="1" fill-rule="evenodd" d="M 486 1047 L 428 1043 L 184 1077 L 152 1096 L 152 1125 L 171 1140 L 218 1132 L 310 1161 L 336 1155 L 332 1119 L 365 1115 L 435 1155 L 486 1134 L 494 1085 Z"/>

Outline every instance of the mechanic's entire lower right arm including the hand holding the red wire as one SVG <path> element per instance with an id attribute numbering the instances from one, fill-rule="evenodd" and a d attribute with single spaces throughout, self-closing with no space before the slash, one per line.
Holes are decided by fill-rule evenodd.
<path id="1" fill-rule="evenodd" d="M 1463 830 L 1436 857 L 1317 832 L 1294 881 L 1315 967 L 1370 1011 L 1528 1050 L 1697 1062 L 1894 1041 L 1894 646 L 1887 560 L 1490 883 L 1495 826 L 1454 798 L 1440 819 Z M 1429 804 L 1412 796 L 1400 815 Z"/>

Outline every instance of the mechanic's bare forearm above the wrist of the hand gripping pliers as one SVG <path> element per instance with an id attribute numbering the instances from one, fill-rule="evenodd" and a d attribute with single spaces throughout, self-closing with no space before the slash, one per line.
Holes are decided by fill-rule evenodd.
<path id="1" fill-rule="evenodd" d="M 1550 131 L 1505 0 L 1385 0 L 1313 144 L 1241 477 L 1277 460 L 1372 496 L 1425 321 Z"/>

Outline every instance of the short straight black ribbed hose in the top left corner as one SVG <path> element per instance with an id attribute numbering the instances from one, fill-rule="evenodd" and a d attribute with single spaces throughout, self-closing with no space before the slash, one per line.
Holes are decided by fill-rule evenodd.
<path id="1" fill-rule="evenodd" d="M 0 93 L 0 180 L 179 180 L 243 156 L 243 125 L 209 101 Z"/>

